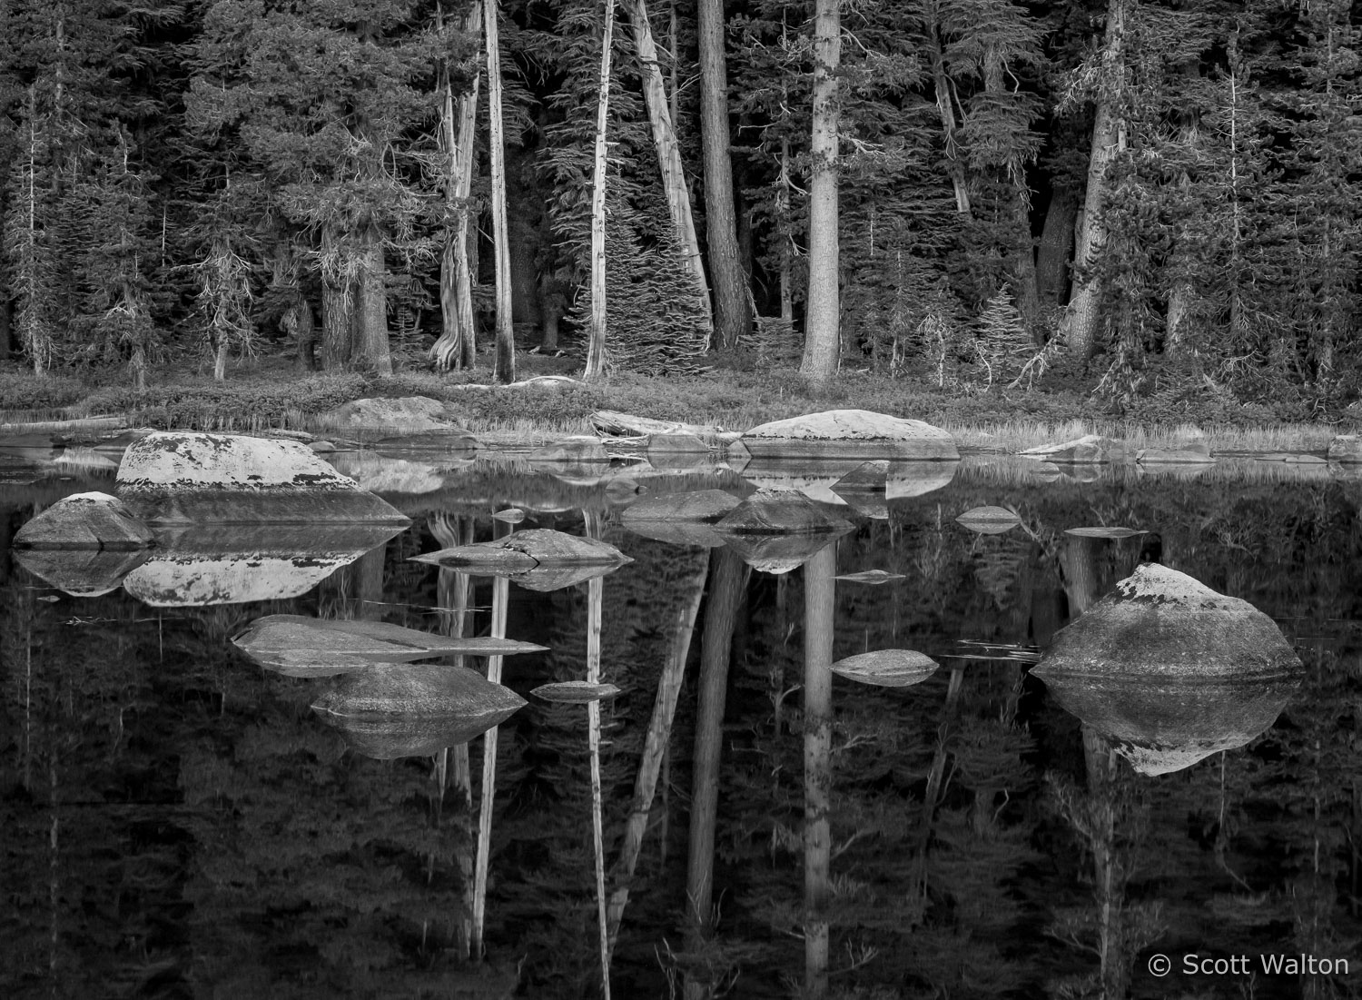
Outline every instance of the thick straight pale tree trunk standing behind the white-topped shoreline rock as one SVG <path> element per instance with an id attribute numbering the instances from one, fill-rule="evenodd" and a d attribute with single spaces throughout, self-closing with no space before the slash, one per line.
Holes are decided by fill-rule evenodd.
<path id="1" fill-rule="evenodd" d="M 842 59 L 840 0 L 817 0 L 813 15 L 813 165 L 809 178 L 809 297 L 799 372 L 814 384 L 838 371 L 838 64 Z"/>

